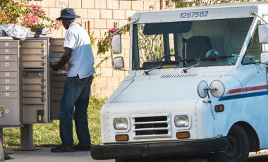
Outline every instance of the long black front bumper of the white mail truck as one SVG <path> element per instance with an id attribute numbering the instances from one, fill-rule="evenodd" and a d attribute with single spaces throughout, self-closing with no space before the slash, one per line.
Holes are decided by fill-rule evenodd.
<path id="1" fill-rule="evenodd" d="M 92 147 L 91 156 L 96 160 L 113 158 L 150 158 L 159 156 L 178 156 L 206 154 L 228 149 L 226 137 L 215 139 L 196 139 L 169 142 L 105 144 Z"/>

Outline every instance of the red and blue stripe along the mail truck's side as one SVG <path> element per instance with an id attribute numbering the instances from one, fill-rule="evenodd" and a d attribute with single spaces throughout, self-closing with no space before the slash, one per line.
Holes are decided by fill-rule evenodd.
<path id="1" fill-rule="evenodd" d="M 267 85 L 260 85 L 255 87 L 244 87 L 237 89 L 230 89 L 224 96 L 219 98 L 219 101 L 225 101 L 230 99 L 243 99 L 252 96 L 264 96 L 267 95 Z"/>

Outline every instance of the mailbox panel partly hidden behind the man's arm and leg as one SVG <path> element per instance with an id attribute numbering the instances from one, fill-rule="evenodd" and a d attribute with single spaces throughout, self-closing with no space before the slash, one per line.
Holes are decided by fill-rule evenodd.
<path id="1" fill-rule="evenodd" d="M 64 53 L 63 49 L 64 39 L 51 39 L 51 56 L 61 57 Z M 64 82 L 66 81 L 66 71 L 54 72 L 50 71 L 50 110 L 51 120 L 59 119 L 59 106 L 61 104 L 61 98 L 63 95 Z"/>

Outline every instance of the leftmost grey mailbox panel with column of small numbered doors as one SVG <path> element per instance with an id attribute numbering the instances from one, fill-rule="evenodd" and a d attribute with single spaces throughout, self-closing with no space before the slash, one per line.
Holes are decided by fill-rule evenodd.
<path id="1" fill-rule="evenodd" d="M 0 40 L 0 126 L 20 125 L 19 42 Z"/>

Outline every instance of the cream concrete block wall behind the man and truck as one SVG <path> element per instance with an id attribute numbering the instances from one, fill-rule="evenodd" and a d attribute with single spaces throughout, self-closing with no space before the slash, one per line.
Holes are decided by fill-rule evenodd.
<path id="1" fill-rule="evenodd" d="M 42 6 L 45 13 L 50 18 L 58 18 L 61 9 L 70 7 L 75 9 L 75 13 L 80 15 L 78 22 L 87 28 L 90 33 L 94 32 L 95 45 L 92 46 L 95 56 L 95 65 L 102 61 L 110 53 L 97 55 L 97 42 L 104 37 L 104 33 L 114 27 L 114 22 L 118 27 L 126 24 L 128 17 L 137 11 L 159 10 L 160 0 L 42 0 L 30 1 L 30 4 Z M 89 21 L 89 23 L 88 23 Z M 88 25 L 90 24 L 90 25 Z M 64 37 L 66 30 L 53 30 L 54 37 Z M 123 35 L 123 52 L 125 66 L 129 68 L 129 35 Z M 123 78 L 128 75 L 128 71 L 113 70 L 111 58 L 104 61 L 97 69 L 99 76 L 92 83 L 92 93 L 100 97 L 109 97 L 118 87 Z"/>

